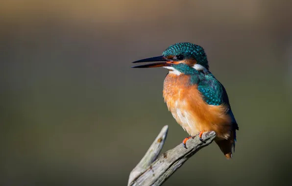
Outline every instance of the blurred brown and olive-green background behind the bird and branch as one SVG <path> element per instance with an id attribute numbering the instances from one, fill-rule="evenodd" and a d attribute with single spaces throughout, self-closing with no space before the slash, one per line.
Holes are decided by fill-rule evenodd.
<path id="1" fill-rule="evenodd" d="M 203 46 L 239 123 L 234 158 L 213 143 L 166 186 L 291 184 L 292 2 L 10 0 L 0 3 L 0 185 L 126 185 L 164 125 L 165 69 L 132 61 Z"/>

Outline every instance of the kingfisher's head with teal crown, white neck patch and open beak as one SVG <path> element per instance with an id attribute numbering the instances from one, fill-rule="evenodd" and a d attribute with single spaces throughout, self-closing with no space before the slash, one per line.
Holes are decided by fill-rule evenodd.
<path id="1" fill-rule="evenodd" d="M 151 57 L 133 63 L 157 62 L 133 68 L 164 67 L 174 73 L 186 73 L 191 69 L 208 71 L 207 55 L 201 46 L 192 43 L 176 43 L 169 46 L 162 56 Z"/>

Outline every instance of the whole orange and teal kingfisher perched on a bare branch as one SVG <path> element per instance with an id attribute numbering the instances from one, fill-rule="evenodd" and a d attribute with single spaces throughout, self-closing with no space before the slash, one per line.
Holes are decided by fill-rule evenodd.
<path id="1" fill-rule="evenodd" d="M 133 63 L 156 62 L 132 68 L 162 67 L 169 70 L 163 84 L 163 97 L 169 111 L 190 135 L 186 141 L 202 140 L 202 134 L 215 131 L 215 142 L 227 159 L 235 151 L 238 124 L 231 111 L 228 95 L 223 85 L 209 70 L 203 47 L 193 43 L 176 43 L 163 51 L 161 56 Z"/>

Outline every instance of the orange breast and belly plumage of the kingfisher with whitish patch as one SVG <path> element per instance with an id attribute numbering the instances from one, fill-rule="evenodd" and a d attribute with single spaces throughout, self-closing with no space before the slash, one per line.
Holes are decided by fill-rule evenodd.
<path id="1" fill-rule="evenodd" d="M 190 85 L 190 76 L 168 74 L 164 80 L 163 97 L 167 106 L 184 130 L 194 136 L 200 131 L 215 131 L 217 137 L 228 139 L 231 118 L 224 105 L 208 105 L 196 85 Z"/>

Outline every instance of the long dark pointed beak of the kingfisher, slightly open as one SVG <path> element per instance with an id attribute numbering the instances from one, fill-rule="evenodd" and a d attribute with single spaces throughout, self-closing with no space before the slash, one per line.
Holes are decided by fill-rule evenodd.
<path id="1" fill-rule="evenodd" d="M 159 62 L 161 61 L 161 62 Z M 142 62 L 158 62 L 158 63 L 151 63 L 147 65 L 139 65 L 135 66 L 132 68 L 153 68 L 153 67 L 168 67 L 171 64 L 173 64 L 173 61 L 170 59 L 165 58 L 163 55 L 162 56 L 157 56 L 157 57 L 150 57 L 146 59 L 141 59 L 138 61 L 134 61 L 133 63 L 142 63 Z"/>

